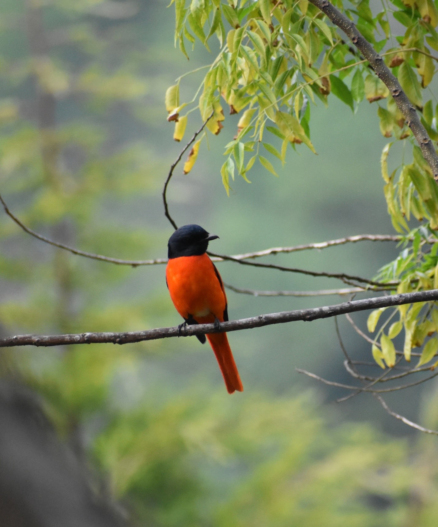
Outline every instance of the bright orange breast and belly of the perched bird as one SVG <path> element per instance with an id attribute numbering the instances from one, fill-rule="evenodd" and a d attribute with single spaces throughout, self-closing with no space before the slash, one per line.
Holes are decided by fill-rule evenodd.
<path id="1" fill-rule="evenodd" d="M 200 323 L 215 317 L 223 321 L 227 298 L 207 254 L 170 259 L 166 279 L 172 302 L 183 318 L 192 315 Z"/>

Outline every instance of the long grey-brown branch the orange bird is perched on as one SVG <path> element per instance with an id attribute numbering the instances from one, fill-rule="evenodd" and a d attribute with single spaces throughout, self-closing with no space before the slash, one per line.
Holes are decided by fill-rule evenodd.
<path id="1" fill-rule="evenodd" d="M 204 335 L 206 333 L 223 333 L 224 331 L 238 331 L 272 324 L 284 324 L 298 320 L 312 321 L 319 318 L 329 318 L 355 311 L 376 309 L 381 307 L 401 306 L 415 302 L 438 300 L 438 289 L 418 291 L 400 295 L 388 295 L 364 300 L 344 302 L 334 306 L 316 307 L 311 309 L 297 309 L 259 315 L 257 317 L 230 320 L 218 324 L 199 324 L 197 326 L 171 327 L 148 329 L 145 331 L 131 331 L 126 333 L 80 333 L 76 335 L 16 335 L 0 339 L 0 347 L 12 346 L 61 346 L 69 344 L 129 344 L 143 340 L 156 340 L 168 337 L 188 337 Z"/>

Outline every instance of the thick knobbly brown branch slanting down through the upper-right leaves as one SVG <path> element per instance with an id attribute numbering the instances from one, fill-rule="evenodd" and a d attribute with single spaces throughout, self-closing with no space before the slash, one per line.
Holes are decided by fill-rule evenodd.
<path id="1" fill-rule="evenodd" d="M 412 130 L 418 145 L 420 145 L 424 159 L 432 169 L 433 177 L 435 180 L 438 180 L 438 155 L 435 152 L 432 140 L 429 137 L 429 134 L 427 134 L 424 126 L 421 124 L 415 106 L 402 90 L 402 86 L 397 78 L 384 63 L 382 56 L 374 50 L 373 46 L 357 30 L 354 22 L 338 11 L 338 9 L 336 9 L 333 4 L 330 4 L 328 0 L 309 0 L 309 2 L 318 7 L 348 36 L 369 64 L 371 64 L 379 79 L 381 79 L 388 90 L 390 90 L 398 109 L 402 112 L 407 125 Z"/>

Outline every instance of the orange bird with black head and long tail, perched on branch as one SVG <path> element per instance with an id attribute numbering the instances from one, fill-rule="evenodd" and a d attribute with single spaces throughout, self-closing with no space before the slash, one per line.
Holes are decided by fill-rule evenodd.
<path id="1" fill-rule="evenodd" d="M 228 320 L 228 304 L 222 279 L 207 255 L 208 242 L 219 238 L 199 225 L 184 225 L 168 242 L 166 284 L 170 298 L 184 319 L 180 325 L 209 324 Z M 206 335 L 196 335 L 205 344 Z M 207 334 L 229 394 L 243 392 L 226 333 Z"/>

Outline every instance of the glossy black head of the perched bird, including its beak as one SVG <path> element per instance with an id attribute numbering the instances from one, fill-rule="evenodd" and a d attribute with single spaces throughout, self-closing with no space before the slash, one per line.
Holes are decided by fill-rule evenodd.
<path id="1" fill-rule="evenodd" d="M 208 242 L 219 236 L 210 235 L 199 225 L 184 225 L 169 238 L 168 258 L 180 256 L 200 256 L 206 252 Z"/>

